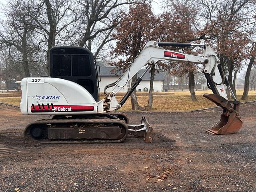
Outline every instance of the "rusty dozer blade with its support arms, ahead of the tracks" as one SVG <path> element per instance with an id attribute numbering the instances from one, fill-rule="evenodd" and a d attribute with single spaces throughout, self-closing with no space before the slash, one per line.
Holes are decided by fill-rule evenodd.
<path id="1" fill-rule="evenodd" d="M 141 124 L 129 125 L 128 134 L 135 135 L 137 137 L 144 137 L 146 143 L 151 143 L 152 138 L 150 137 L 153 128 L 148 123 L 145 116 L 141 119 Z"/>

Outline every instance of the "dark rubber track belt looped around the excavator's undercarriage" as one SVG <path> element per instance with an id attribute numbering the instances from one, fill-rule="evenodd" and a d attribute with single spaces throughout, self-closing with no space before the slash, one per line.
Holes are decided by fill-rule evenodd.
<path id="1" fill-rule="evenodd" d="M 90 124 L 108 124 L 108 123 L 114 123 L 114 124 L 120 124 L 123 128 L 125 128 L 126 133 L 124 134 L 124 137 L 118 140 L 35 140 L 31 136 L 29 137 L 28 134 L 26 134 L 27 129 L 32 124 L 52 124 L 52 123 L 90 123 Z M 116 142 L 122 142 L 126 139 L 128 134 L 128 127 L 127 124 L 124 123 L 122 120 L 114 120 L 114 119 L 42 119 L 34 121 L 26 126 L 26 129 L 24 131 L 24 137 L 25 139 L 34 144 L 42 143 L 42 144 L 76 144 L 76 143 L 116 143 Z"/>

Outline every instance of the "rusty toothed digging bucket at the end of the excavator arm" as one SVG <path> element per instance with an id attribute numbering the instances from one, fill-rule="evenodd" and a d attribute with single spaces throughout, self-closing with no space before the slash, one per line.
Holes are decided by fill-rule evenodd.
<path id="1" fill-rule="evenodd" d="M 228 101 L 217 94 L 204 94 L 204 97 L 223 109 L 220 121 L 206 130 L 207 133 L 213 135 L 233 134 L 241 129 L 243 122 L 238 113 L 239 101 Z M 233 104 L 233 106 L 231 104 Z"/>

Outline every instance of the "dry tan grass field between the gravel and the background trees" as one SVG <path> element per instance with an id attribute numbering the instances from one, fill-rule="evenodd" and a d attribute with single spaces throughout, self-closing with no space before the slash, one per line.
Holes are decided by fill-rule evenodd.
<path id="1" fill-rule="evenodd" d="M 159 93 L 159 92 L 158 92 Z M 189 91 L 176 91 L 170 92 L 170 95 L 154 95 L 152 110 L 158 111 L 190 111 L 202 108 L 208 108 L 216 106 L 213 102 L 203 97 L 204 93 L 212 93 L 211 90 L 196 91 L 196 98 L 198 102 L 192 102 Z M 243 90 L 237 91 L 238 100 L 242 97 Z M 146 106 L 148 103 L 148 96 L 137 96 L 138 102 L 141 106 Z M 101 97 L 103 99 L 104 97 Z M 122 96 L 117 96 L 118 100 L 121 100 Z M 256 100 L 256 91 L 250 91 L 247 100 L 240 100 L 241 102 Z M 15 106 L 20 105 L 20 97 L 3 97 L 0 98 L 0 102 L 12 104 Z M 120 111 L 130 111 L 131 100 L 130 98 L 122 106 Z"/>

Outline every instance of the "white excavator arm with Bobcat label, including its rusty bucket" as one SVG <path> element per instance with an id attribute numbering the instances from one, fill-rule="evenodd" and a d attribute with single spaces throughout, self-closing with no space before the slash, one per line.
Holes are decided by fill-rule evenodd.
<path id="1" fill-rule="evenodd" d="M 201 47 L 204 52 L 202 56 L 185 54 L 176 52 L 173 50 L 164 49 L 163 46 L 171 47 Z M 105 111 L 118 110 L 129 98 L 130 94 L 136 89 L 142 77 L 146 71 L 150 68 L 151 64 L 155 64 L 158 61 L 174 61 L 174 62 L 190 62 L 193 64 L 202 64 L 203 73 L 207 79 L 207 85 L 212 90 L 213 94 L 204 94 L 204 97 L 208 98 L 218 106 L 223 108 L 223 113 L 220 122 L 212 126 L 210 130 L 207 130 L 210 134 L 230 134 L 234 133 L 242 127 L 242 121 L 238 114 L 240 102 L 236 101 L 227 78 L 221 68 L 220 60 L 218 59 L 214 50 L 209 44 L 190 44 L 190 43 L 168 43 L 168 42 L 156 42 L 150 41 L 146 44 L 140 54 L 136 57 L 134 62 L 126 69 L 124 74 L 114 83 L 105 87 L 104 93 L 107 96 L 105 98 Z M 146 66 L 145 72 L 140 76 L 136 82 L 132 85 L 130 90 L 125 94 L 120 102 L 117 101 L 115 94 L 126 86 L 128 81 L 144 66 Z M 225 91 L 225 86 L 230 90 L 234 101 L 228 101 L 228 97 Z M 112 87 L 110 94 L 106 92 L 108 88 Z M 233 103 L 234 106 L 231 105 Z M 231 106 L 231 107 L 230 107 Z M 230 117 L 231 116 L 231 117 Z M 232 128 L 234 127 L 234 128 Z"/>

